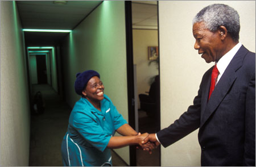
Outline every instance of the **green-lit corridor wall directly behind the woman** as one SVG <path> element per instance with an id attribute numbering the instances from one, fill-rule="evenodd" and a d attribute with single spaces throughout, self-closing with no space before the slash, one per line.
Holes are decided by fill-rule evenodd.
<path id="1" fill-rule="evenodd" d="M 128 121 L 125 2 L 103 1 L 73 30 L 61 46 L 65 100 L 73 107 L 76 73 L 96 70 L 105 94 Z M 115 149 L 129 164 L 129 147 Z"/>

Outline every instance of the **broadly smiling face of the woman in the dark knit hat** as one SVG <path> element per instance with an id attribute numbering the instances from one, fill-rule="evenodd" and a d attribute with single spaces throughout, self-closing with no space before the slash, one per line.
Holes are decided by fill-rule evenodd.
<path id="1" fill-rule="evenodd" d="M 100 78 L 97 76 L 90 78 L 82 94 L 89 102 L 98 102 L 104 99 L 104 85 Z"/>

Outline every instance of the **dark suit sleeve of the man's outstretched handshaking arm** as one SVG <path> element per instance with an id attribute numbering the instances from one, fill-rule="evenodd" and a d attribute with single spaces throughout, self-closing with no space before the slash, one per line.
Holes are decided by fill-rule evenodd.
<path id="1" fill-rule="evenodd" d="M 169 127 L 156 133 L 163 147 L 168 147 L 199 128 L 201 118 L 201 87 L 203 80 L 200 84 L 198 94 L 193 100 L 193 105 L 189 106 L 188 110 Z"/>

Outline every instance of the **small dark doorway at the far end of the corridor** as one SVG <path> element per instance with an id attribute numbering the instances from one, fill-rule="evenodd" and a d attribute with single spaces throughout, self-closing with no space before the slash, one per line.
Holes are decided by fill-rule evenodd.
<path id="1" fill-rule="evenodd" d="M 38 84 L 47 83 L 46 56 L 36 55 L 36 69 L 38 71 Z"/>

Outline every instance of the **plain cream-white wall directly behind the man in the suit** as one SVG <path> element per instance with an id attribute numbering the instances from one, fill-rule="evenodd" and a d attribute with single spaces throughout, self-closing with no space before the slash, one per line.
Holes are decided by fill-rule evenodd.
<path id="1" fill-rule="evenodd" d="M 197 95 L 207 64 L 193 49 L 192 19 L 203 7 L 225 3 L 240 14 L 240 41 L 255 52 L 255 1 L 159 1 L 161 128 L 179 118 Z M 162 166 L 200 166 L 198 130 L 161 148 Z"/>

